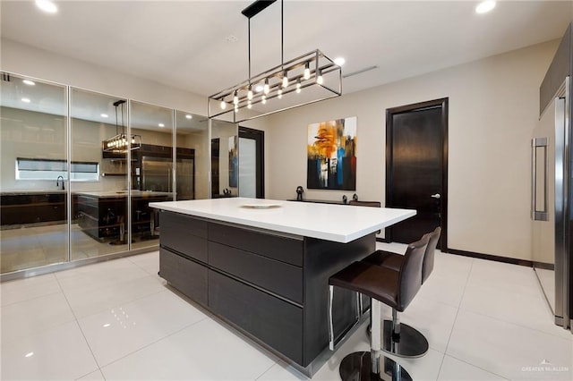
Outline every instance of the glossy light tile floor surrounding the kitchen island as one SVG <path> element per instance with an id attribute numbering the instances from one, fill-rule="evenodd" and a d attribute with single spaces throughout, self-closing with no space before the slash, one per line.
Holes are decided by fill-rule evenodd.
<path id="1" fill-rule="evenodd" d="M 0 378 L 305 379 L 157 273 L 155 251 L 0 284 Z M 553 325 L 536 282 L 531 268 L 437 253 L 432 276 L 402 314 L 430 351 L 395 360 L 415 380 L 572 380 L 573 334 Z M 368 349 L 364 328 L 312 379 L 338 380 L 346 353 Z"/>

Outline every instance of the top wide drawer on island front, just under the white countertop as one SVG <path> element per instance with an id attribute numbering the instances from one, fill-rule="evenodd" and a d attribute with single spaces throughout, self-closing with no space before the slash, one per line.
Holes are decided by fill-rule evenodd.
<path id="1" fill-rule="evenodd" d="M 303 267 L 304 241 L 225 224 L 209 224 L 209 240 Z"/>

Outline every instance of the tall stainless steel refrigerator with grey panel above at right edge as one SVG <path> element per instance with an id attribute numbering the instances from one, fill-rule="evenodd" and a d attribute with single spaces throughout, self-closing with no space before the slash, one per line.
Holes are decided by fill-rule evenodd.
<path id="1" fill-rule="evenodd" d="M 573 324 L 572 37 L 569 25 L 540 89 L 541 115 L 531 145 L 533 265 L 555 324 L 566 329 Z"/>

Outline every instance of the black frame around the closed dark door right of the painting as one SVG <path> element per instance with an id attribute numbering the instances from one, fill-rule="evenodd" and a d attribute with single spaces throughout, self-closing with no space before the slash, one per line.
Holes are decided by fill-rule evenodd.
<path id="1" fill-rule="evenodd" d="M 448 104 L 449 98 L 442 97 L 438 99 L 429 100 L 426 102 L 419 102 L 412 105 L 398 106 L 386 109 L 386 205 L 392 204 L 392 131 L 393 131 L 393 115 L 402 114 L 412 111 L 423 110 L 424 108 L 441 107 L 441 193 L 440 193 L 440 250 L 441 252 L 448 252 Z M 387 240 L 392 240 L 392 228 L 386 230 Z"/>

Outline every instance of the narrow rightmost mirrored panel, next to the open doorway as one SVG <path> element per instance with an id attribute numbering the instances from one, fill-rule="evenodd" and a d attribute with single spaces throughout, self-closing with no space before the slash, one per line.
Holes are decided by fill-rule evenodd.
<path id="1" fill-rule="evenodd" d="M 238 129 L 235 123 L 211 120 L 211 198 L 238 195 Z"/>

